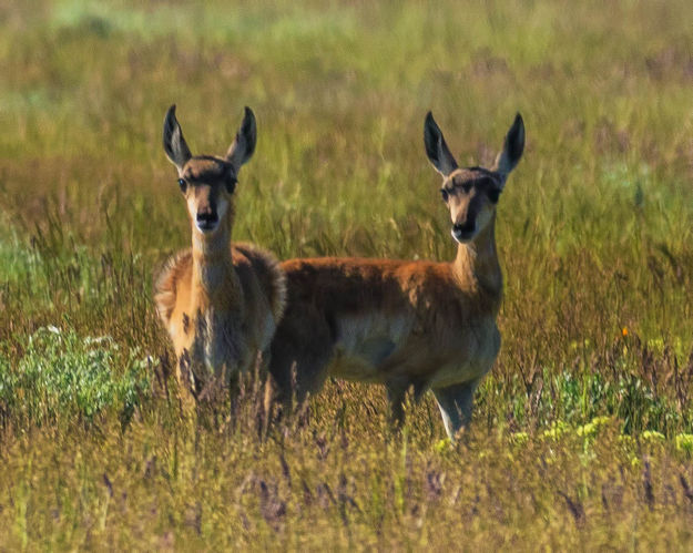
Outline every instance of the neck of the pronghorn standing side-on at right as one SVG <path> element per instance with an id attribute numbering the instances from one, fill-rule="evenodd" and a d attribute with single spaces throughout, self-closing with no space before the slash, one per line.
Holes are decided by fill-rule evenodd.
<path id="1" fill-rule="evenodd" d="M 496 214 L 469 244 L 458 244 L 453 270 L 465 287 L 478 288 L 498 307 L 503 276 L 496 249 Z"/>

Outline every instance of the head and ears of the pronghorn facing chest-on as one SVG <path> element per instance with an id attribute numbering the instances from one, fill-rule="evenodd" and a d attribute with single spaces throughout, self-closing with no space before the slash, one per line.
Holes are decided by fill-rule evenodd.
<path id="1" fill-rule="evenodd" d="M 169 107 L 164 120 L 164 151 L 179 170 L 179 186 L 187 203 L 193 232 L 213 235 L 221 222 L 233 223 L 233 193 L 241 166 L 255 151 L 257 129 L 249 107 L 235 140 L 224 157 L 192 155 L 183 131 L 175 119 L 175 105 Z"/>

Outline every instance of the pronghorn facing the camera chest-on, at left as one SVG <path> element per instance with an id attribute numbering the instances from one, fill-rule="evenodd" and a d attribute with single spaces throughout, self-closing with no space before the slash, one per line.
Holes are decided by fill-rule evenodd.
<path id="1" fill-rule="evenodd" d="M 268 346 L 284 311 L 284 273 L 267 252 L 231 244 L 238 171 L 255 151 L 255 116 L 243 124 L 224 157 L 193 156 L 175 119 L 164 121 L 164 150 L 177 167 L 187 205 L 192 249 L 172 257 L 155 285 L 159 315 L 173 340 L 179 378 L 200 391 L 206 377 L 247 370 Z"/>

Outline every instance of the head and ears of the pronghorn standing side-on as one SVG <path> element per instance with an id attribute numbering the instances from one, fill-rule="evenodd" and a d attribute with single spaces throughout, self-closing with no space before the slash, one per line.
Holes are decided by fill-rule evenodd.
<path id="1" fill-rule="evenodd" d="M 506 135 L 503 149 L 490 170 L 459 167 L 430 112 L 426 115 L 424 142 L 428 158 L 442 175 L 440 193 L 450 209 L 452 238 L 460 244 L 467 244 L 492 219 L 506 180 L 522 157 L 524 150 L 522 116 L 518 113 L 514 117 Z"/>

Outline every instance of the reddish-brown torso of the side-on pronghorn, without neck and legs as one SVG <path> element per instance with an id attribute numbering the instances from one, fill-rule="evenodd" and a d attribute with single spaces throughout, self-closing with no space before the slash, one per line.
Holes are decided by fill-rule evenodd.
<path id="1" fill-rule="evenodd" d="M 470 365 L 471 358 L 480 351 L 491 351 L 485 359 L 496 356 L 498 336 L 491 332 L 487 342 L 473 329 L 495 321 L 501 291 L 460 286 L 451 264 L 327 257 L 292 259 L 282 268 L 288 296 L 273 344 L 279 362 L 283 345 L 315 344 L 310 337 L 317 335 L 319 345 L 308 347 L 330 349 L 323 377 L 393 386 L 408 380 L 420 393 L 480 377 L 483 368 Z M 440 366 L 446 359 L 467 369 L 450 378 L 449 362 Z M 323 380 L 304 391 L 315 392 Z"/>

